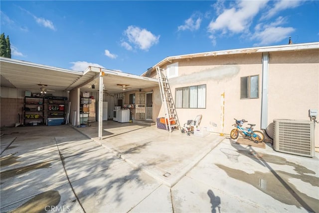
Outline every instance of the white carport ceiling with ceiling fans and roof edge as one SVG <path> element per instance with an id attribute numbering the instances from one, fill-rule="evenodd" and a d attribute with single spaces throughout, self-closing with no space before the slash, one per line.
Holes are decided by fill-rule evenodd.
<path id="1" fill-rule="evenodd" d="M 0 57 L 1 86 L 24 90 L 39 89 L 38 84 L 47 85 L 46 89 L 68 91 L 80 88 L 81 91 L 99 91 L 100 68 L 89 67 L 84 72 L 35 64 L 27 61 Z M 105 72 L 104 87 L 108 93 L 124 92 L 118 84 L 128 85 L 125 91 L 158 86 L 158 81 L 139 75 L 102 69 Z M 95 89 L 92 89 L 95 84 Z M 90 87 L 90 88 L 89 88 Z"/>

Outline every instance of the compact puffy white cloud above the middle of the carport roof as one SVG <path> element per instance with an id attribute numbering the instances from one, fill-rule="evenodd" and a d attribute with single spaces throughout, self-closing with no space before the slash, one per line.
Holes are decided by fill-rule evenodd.
<path id="1" fill-rule="evenodd" d="M 137 26 L 129 26 L 124 34 L 127 36 L 130 43 L 134 44 L 142 50 L 148 51 L 151 46 L 159 42 L 160 35 L 156 36 L 147 29 L 141 29 Z"/>

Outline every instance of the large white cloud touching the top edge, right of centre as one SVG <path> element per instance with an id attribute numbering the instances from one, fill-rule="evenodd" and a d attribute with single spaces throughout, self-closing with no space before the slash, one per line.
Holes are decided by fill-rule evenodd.
<path id="1" fill-rule="evenodd" d="M 231 31 L 233 33 L 243 32 L 249 29 L 251 20 L 266 5 L 266 0 L 243 0 L 232 8 L 224 11 L 212 20 L 208 25 L 208 31 L 221 30 L 222 33 Z"/>

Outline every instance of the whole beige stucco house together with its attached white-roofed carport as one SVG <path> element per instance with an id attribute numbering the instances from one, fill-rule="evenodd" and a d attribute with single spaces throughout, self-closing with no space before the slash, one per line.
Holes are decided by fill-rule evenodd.
<path id="1" fill-rule="evenodd" d="M 97 67 L 75 72 L 1 57 L 1 127 L 16 123 L 25 91 L 38 92 L 38 84 L 67 97 L 70 112 L 80 111 L 81 93 L 89 92 L 100 112 L 97 121 L 100 103 L 107 101 L 108 119 L 120 105 L 130 109 L 133 122 L 156 122 L 164 114 L 156 67 L 166 70 L 180 124 L 202 114 L 201 127 L 229 134 L 234 118 L 246 119 L 271 135 L 274 119 L 310 121 L 309 110 L 319 109 L 319 42 L 169 56 L 141 76 Z M 79 125 L 79 113 L 71 113 L 70 120 Z"/>

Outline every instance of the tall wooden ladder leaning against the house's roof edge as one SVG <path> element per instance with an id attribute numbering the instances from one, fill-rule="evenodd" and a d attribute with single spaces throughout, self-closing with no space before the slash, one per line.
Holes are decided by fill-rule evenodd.
<path id="1" fill-rule="evenodd" d="M 164 69 L 156 67 L 156 72 L 158 74 L 160 96 L 164 107 L 166 130 L 172 132 L 174 129 L 180 129 L 175 104 L 173 97 L 171 96 L 168 79 Z"/>

